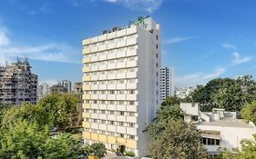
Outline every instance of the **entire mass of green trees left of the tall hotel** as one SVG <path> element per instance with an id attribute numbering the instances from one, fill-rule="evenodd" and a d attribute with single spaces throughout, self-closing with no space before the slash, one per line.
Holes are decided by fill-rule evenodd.
<path id="1" fill-rule="evenodd" d="M 104 144 L 84 145 L 66 133 L 76 110 L 77 96 L 47 95 L 39 104 L 0 107 L 0 158 L 79 159 L 89 154 L 104 156 Z M 58 134 L 51 135 L 56 127 Z"/>

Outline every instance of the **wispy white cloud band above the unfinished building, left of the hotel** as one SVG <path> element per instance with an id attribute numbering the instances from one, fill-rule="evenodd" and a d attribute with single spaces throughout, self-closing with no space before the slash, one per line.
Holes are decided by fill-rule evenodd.
<path id="1" fill-rule="evenodd" d="M 16 41 L 12 44 L 10 42 L 5 30 L 0 27 L 0 65 L 5 65 L 5 61 L 10 62 L 17 56 L 47 62 L 79 63 L 73 56 L 80 51 L 69 45 L 52 42 L 42 45 L 17 45 Z"/>

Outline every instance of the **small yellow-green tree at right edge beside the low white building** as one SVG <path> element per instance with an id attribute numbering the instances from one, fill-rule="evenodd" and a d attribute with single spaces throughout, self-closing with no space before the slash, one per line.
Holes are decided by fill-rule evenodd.
<path id="1" fill-rule="evenodd" d="M 243 119 L 256 124 L 256 102 L 253 102 L 252 104 L 245 104 L 241 109 L 241 116 Z"/>

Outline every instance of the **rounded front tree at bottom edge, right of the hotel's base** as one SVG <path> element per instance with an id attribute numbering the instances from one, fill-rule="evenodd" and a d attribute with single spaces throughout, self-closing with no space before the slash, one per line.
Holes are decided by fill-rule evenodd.
<path id="1" fill-rule="evenodd" d="M 166 129 L 149 145 L 153 159 L 202 159 L 206 150 L 200 143 L 200 132 L 192 124 L 170 121 Z"/>

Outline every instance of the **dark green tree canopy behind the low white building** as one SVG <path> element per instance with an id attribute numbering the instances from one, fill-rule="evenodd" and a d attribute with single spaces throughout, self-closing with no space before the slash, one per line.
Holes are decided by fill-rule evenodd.
<path id="1" fill-rule="evenodd" d="M 256 82 L 249 75 L 237 79 L 217 78 L 205 86 L 198 86 L 192 100 L 199 102 L 203 111 L 211 111 L 214 107 L 241 111 L 244 104 L 256 100 Z"/>

